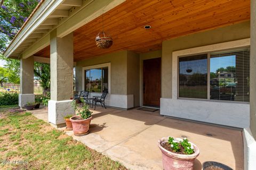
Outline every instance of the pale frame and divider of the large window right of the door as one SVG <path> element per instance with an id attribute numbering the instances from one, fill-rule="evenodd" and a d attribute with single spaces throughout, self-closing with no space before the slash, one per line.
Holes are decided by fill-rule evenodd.
<path id="1" fill-rule="evenodd" d="M 188 99 L 188 100 L 205 100 L 205 101 L 217 101 L 217 102 L 232 102 L 232 103 L 246 103 L 242 101 L 226 101 L 226 100 L 210 100 L 210 94 L 207 94 L 207 99 L 197 99 L 197 98 L 180 98 L 179 97 L 179 57 L 183 56 L 193 56 L 197 54 L 207 54 L 207 72 L 210 71 L 210 53 L 232 50 L 236 48 L 247 48 L 250 47 L 250 38 L 229 41 L 225 43 L 207 45 L 202 47 L 195 47 L 189 49 L 183 49 L 174 51 L 172 53 L 172 98 L 174 99 Z M 210 92 L 210 74 L 207 74 L 207 92 Z"/>

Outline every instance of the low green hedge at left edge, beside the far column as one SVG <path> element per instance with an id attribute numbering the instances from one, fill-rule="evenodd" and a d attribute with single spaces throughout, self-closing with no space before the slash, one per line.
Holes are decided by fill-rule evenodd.
<path id="1" fill-rule="evenodd" d="M 0 93 L 0 106 L 3 105 L 17 105 L 19 103 L 19 95 L 17 92 L 3 92 Z"/>

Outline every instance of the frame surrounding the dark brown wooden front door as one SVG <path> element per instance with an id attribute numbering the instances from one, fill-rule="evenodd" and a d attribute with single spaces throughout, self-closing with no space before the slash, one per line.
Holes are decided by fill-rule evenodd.
<path id="1" fill-rule="evenodd" d="M 143 56 L 140 56 L 140 106 L 143 106 L 143 61 L 154 59 L 154 58 L 161 58 L 161 97 L 162 97 L 162 53 L 161 51 L 155 51 L 152 53 L 156 54 L 145 54 Z M 149 108 L 158 108 L 158 107 L 151 107 L 151 106 L 143 106 L 143 107 L 149 107 Z M 160 108 L 160 107 L 159 107 Z"/>

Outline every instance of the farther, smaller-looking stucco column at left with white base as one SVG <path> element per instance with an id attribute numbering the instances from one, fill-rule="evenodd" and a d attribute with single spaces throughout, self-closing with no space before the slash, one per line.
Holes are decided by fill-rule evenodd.
<path id="1" fill-rule="evenodd" d="M 34 102 L 34 58 L 28 57 L 20 60 L 20 94 L 19 106 Z"/>

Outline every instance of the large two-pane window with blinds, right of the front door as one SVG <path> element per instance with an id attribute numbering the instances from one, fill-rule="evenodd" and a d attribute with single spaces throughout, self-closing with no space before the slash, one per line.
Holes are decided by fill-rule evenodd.
<path id="1" fill-rule="evenodd" d="M 250 49 L 179 57 L 179 97 L 249 102 Z"/>

